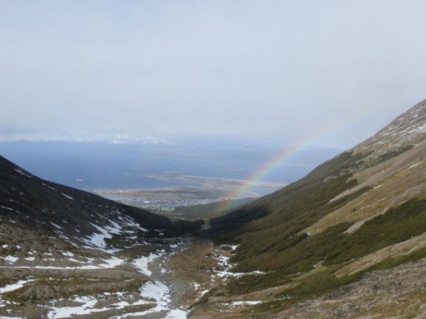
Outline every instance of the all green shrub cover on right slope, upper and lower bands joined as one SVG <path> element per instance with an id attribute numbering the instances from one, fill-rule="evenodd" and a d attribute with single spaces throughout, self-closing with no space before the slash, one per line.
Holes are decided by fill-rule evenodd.
<path id="1" fill-rule="evenodd" d="M 343 153 L 320 165 L 305 179 L 226 216 L 214 218 L 207 235 L 217 242 L 240 244 L 236 256 L 231 259 L 238 263 L 237 272 L 285 269 L 286 274 L 292 274 L 307 272 L 317 262 L 324 262 L 326 266 L 340 264 L 423 233 L 426 204 L 420 200 L 409 201 L 369 220 L 355 233 L 344 233 L 351 223 L 335 225 L 313 236 L 300 233 L 371 190 L 365 187 L 330 202 L 345 189 L 355 186 L 356 181 L 350 180 L 348 174 L 327 175 L 328 178 L 324 174 L 338 174 L 335 165 L 343 163 L 343 167 L 348 168 L 359 160 L 350 153 Z"/>

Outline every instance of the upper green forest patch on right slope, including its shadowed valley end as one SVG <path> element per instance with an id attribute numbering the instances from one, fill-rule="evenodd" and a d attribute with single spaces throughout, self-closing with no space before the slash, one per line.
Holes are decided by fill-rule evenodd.
<path id="1" fill-rule="evenodd" d="M 300 252 L 302 255 L 294 259 L 300 262 L 292 264 L 285 252 L 307 240 L 306 234 L 300 234 L 302 230 L 370 190 L 364 188 L 330 202 L 342 191 L 356 186 L 356 180 L 350 180 L 351 174 L 341 172 L 356 165 L 360 159 L 360 155 L 355 157 L 351 152 L 344 152 L 300 181 L 212 219 L 212 228 L 204 235 L 216 242 L 241 244 L 231 259 L 238 262 L 236 270 L 239 272 L 276 271 L 292 265 L 295 271 L 311 269 L 314 262 L 307 259 L 309 250 Z"/>

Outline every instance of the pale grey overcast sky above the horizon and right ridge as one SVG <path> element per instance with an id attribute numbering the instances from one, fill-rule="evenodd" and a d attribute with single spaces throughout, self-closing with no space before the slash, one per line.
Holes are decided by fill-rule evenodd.
<path id="1" fill-rule="evenodd" d="M 424 0 L 0 7 L 0 140 L 351 147 L 426 98 Z"/>

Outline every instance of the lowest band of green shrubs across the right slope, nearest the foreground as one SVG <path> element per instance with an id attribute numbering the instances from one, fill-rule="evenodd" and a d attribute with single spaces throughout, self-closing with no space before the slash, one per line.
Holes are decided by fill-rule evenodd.
<path id="1" fill-rule="evenodd" d="M 414 199 L 403 203 L 364 223 L 356 232 L 344 233 L 350 225 L 335 225 L 313 236 L 299 234 L 287 243 L 288 247 L 281 251 L 271 251 L 263 259 L 263 262 L 271 259 L 279 263 L 280 267 L 262 275 L 243 276 L 227 286 L 227 293 L 250 293 L 278 287 L 274 293 L 274 301 L 263 303 L 256 310 L 280 310 L 357 281 L 371 270 L 388 269 L 426 257 L 426 248 L 421 248 L 407 255 L 385 259 L 374 267 L 351 276 L 334 276 L 337 269 L 352 259 L 424 233 L 426 200 Z M 280 286 L 283 287 L 281 290 Z"/>

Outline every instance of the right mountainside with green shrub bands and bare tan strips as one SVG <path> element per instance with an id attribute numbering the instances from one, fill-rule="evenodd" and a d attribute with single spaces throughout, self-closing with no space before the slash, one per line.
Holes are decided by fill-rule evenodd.
<path id="1" fill-rule="evenodd" d="M 211 225 L 207 237 L 239 244 L 234 271 L 256 271 L 220 288 L 222 298 L 257 296 L 249 309 L 259 313 L 425 257 L 426 100 L 300 181 Z"/>

